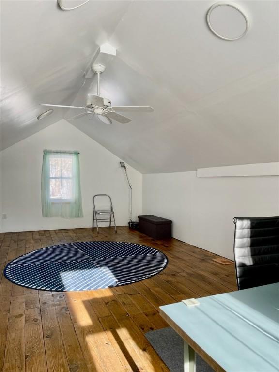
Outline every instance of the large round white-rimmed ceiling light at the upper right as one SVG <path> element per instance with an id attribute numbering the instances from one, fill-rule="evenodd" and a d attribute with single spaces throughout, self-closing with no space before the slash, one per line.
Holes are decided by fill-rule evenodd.
<path id="1" fill-rule="evenodd" d="M 223 40 L 238 40 L 248 31 L 248 19 L 238 5 L 217 2 L 206 16 L 210 30 Z"/>

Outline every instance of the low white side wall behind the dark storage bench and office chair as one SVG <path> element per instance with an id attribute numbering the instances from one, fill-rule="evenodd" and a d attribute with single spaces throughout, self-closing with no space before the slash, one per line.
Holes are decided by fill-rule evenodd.
<path id="1" fill-rule="evenodd" d="M 172 220 L 173 237 L 232 259 L 233 217 L 279 215 L 279 177 L 144 174 L 142 204 L 143 214 Z"/>

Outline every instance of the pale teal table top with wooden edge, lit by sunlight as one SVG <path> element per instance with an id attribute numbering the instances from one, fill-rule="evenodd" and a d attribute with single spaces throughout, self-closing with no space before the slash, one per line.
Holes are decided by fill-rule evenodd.
<path id="1" fill-rule="evenodd" d="M 279 371 L 279 283 L 161 306 L 227 372 Z"/>

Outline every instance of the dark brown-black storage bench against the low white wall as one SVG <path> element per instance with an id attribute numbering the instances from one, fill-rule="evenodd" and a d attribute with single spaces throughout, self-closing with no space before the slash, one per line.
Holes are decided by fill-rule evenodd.
<path id="1" fill-rule="evenodd" d="M 171 238 L 171 220 L 154 215 L 142 215 L 139 217 L 139 230 L 141 233 L 154 239 Z"/>

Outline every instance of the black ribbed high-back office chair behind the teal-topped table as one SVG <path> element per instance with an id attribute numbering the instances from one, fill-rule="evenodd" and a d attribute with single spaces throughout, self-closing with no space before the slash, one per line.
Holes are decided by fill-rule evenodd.
<path id="1" fill-rule="evenodd" d="M 238 289 L 279 281 L 279 216 L 236 217 L 234 259 Z"/>

